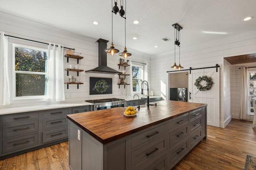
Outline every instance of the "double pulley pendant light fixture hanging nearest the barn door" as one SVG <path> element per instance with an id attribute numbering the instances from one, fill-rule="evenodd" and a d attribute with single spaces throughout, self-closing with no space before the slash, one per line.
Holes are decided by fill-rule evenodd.
<path id="1" fill-rule="evenodd" d="M 172 26 L 174 27 L 175 41 L 174 41 L 174 65 L 171 66 L 171 68 L 174 68 L 174 69 L 178 68 L 178 70 L 181 70 L 182 68 L 184 68 L 180 65 L 180 30 L 182 29 L 182 27 L 178 23 L 175 23 Z M 176 47 L 176 45 L 179 47 L 179 65 L 178 66 L 176 65 L 176 62 L 175 62 L 175 59 L 176 59 L 176 48 L 175 47 Z"/>

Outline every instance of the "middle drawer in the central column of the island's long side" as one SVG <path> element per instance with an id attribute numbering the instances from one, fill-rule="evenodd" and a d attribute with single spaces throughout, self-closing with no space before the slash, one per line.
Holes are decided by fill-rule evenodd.
<path id="1" fill-rule="evenodd" d="M 170 132 L 170 148 L 188 137 L 188 124 Z"/>

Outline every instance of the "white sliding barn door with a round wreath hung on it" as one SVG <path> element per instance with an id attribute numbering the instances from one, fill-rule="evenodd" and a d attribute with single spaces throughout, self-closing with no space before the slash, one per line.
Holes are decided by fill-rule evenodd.
<path id="1" fill-rule="evenodd" d="M 194 83 L 199 76 L 208 76 L 212 78 L 212 88 L 206 91 L 200 91 Z M 200 82 L 202 86 L 206 86 L 206 82 Z M 204 68 L 191 70 L 188 76 L 188 102 L 204 103 L 207 106 L 207 125 L 220 127 L 220 69 L 216 72 L 216 68 Z"/>

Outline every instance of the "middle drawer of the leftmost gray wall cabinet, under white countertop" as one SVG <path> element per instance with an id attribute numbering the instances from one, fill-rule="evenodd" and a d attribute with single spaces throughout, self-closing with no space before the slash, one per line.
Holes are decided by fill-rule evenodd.
<path id="1" fill-rule="evenodd" d="M 22 121 L 3 125 L 3 138 L 38 131 L 38 120 Z"/>

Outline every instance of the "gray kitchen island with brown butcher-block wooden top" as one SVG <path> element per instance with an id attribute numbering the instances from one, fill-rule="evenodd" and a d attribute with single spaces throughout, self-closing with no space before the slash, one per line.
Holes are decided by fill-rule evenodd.
<path id="1" fill-rule="evenodd" d="M 67 115 L 73 170 L 171 169 L 206 139 L 206 104 L 163 100 L 124 116 L 125 107 Z"/>

